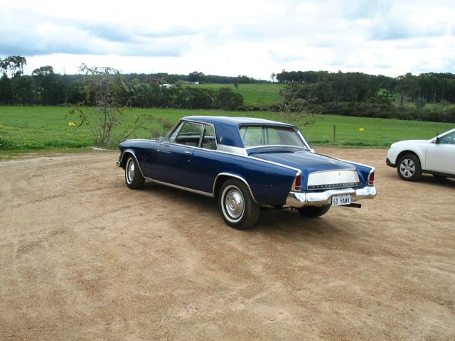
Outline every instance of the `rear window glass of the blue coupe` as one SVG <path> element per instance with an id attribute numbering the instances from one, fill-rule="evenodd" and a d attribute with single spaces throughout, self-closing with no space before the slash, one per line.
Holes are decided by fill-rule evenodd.
<path id="1" fill-rule="evenodd" d="M 297 131 L 291 126 L 240 126 L 245 148 L 256 146 L 296 146 L 306 148 Z"/>

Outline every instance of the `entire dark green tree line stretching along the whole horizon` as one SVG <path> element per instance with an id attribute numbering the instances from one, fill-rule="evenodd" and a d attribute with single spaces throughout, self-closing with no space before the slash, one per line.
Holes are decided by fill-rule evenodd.
<path id="1" fill-rule="evenodd" d="M 46 65 L 23 75 L 26 58 L 19 55 L 0 59 L 0 104 L 96 106 L 92 88 L 94 75 L 60 75 Z M 119 73 L 119 72 L 118 72 Z M 204 75 L 121 74 L 119 104 L 130 107 L 176 109 L 268 109 L 280 111 L 306 107 L 311 112 L 348 116 L 455 121 L 455 75 L 427 72 L 407 73 L 399 77 L 368 75 L 362 72 L 291 71 L 272 74 L 272 81 L 284 83 L 279 103 L 263 107 L 245 107 L 241 94 L 232 87 L 218 90 L 186 87 L 186 82 L 210 82 L 226 85 L 264 82 L 245 75 L 226 77 Z M 172 87 L 167 87 L 172 84 Z M 413 106 L 404 105 L 412 102 Z M 426 103 L 439 104 L 433 109 Z"/>

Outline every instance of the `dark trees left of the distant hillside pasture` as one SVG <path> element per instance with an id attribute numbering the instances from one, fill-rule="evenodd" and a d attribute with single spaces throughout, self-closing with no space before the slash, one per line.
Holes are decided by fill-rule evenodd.
<path id="1" fill-rule="evenodd" d="M 38 67 L 33 70 L 31 75 L 23 75 L 25 65 L 25 58 L 11 57 L 0 60 L 2 75 L 0 104 L 96 105 L 92 101 L 95 97 L 88 93 L 92 90 L 87 86 L 93 75 L 60 75 L 55 73 L 53 67 L 49 65 Z M 202 77 L 200 72 L 196 72 L 196 74 L 199 74 L 198 77 Z M 116 96 L 123 101 L 122 105 L 128 104 L 132 107 L 243 109 L 242 95 L 230 87 L 218 90 L 184 87 L 184 79 L 188 79 L 188 77 L 191 78 L 191 74 L 186 77 L 168 74 L 122 75 L 124 87 L 122 92 L 117 93 Z M 219 76 L 219 79 L 231 80 L 230 77 L 222 76 Z M 242 82 L 242 76 L 235 79 L 237 82 Z M 173 80 L 176 80 L 175 86 L 164 86 Z M 246 82 L 246 80 L 244 81 Z"/>

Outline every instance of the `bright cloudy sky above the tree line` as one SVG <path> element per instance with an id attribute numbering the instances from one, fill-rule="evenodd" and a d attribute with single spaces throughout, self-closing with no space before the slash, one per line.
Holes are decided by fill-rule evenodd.
<path id="1" fill-rule="evenodd" d="M 25 73 L 455 73 L 454 0 L 0 0 L 0 58 Z"/>

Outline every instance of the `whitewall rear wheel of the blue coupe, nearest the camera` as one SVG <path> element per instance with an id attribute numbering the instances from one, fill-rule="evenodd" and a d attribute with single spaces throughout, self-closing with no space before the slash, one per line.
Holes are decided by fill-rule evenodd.
<path id="1" fill-rule="evenodd" d="M 226 224 L 235 229 L 252 227 L 261 212 L 247 186 L 236 179 L 227 180 L 221 186 L 218 207 Z"/>

